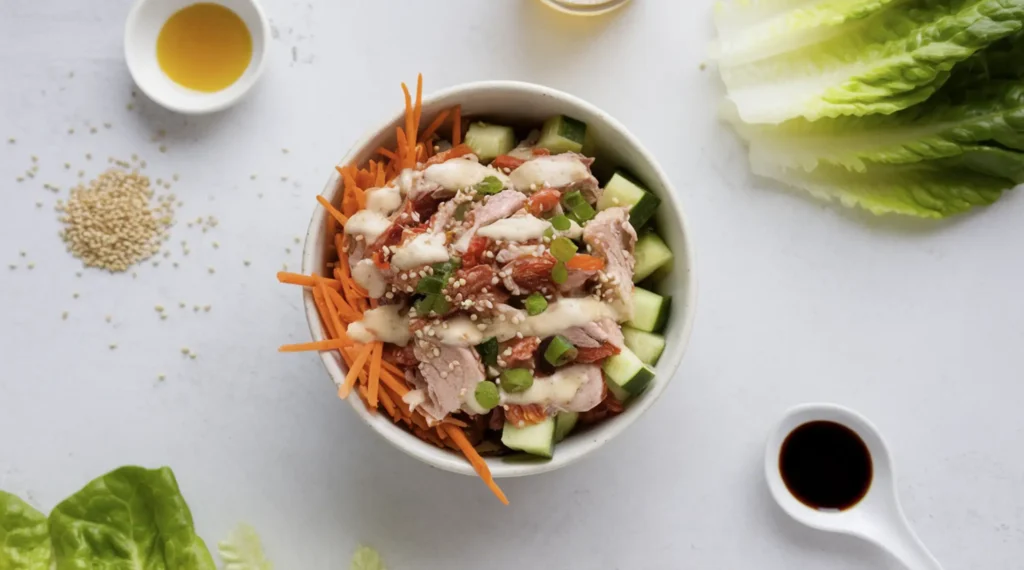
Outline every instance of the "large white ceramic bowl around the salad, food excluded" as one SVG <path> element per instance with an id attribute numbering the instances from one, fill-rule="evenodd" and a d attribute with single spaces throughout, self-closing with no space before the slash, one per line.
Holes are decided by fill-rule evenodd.
<path id="1" fill-rule="evenodd" d="M 400 99 L 399 99 L 400 100 Z M 484 117 L 495 122 L 525 123 L 541 125 L 552 115 L 567 115 L 588 125 L 588 130 L 596 140 L 598 169 L 601 164 L 624 167 L 634 172 L 651 191 L 663 201 L 655 219 L 658 232 L 675 254 L 672 272 L 659 283 L 660 293 L 672 295 L 672 313 L 665 331 L 667 348 L 656 367 L 656 377 L 646 391 L 627 404 L 626 410 L 606 422 L 585 431 L 573 433 L 557 445 L 555 456 L 545 462 L 523 462 L 509 457 L 488 457 L 487 465 L 495 477 L 519 477 L 534 475 L 565 467 L 607 443 L 636 422 L 654 400 L 665 392 L 676 368 L 682 360 L 693 325 L 693 309 L 696 283 L 693 277 L 693 250 L 687 234 L 686 217 L 680 206 L 676 191 L 654 158 L 617 121 L 594 105 L 572 95 L 534 85 L 509 81 L 487 81 L 456 86 L 423 101 L 423 120 L 428 123 L 438 112 L 455 104 L 462 104 L 464 117 Z M 395 127 L 402 125 L 403 112 L 399 111 L 379 128 L 355 143 L 348 151 L 342 165 L 364 164 L 374 157 L 378 146 L 394 143 Z M 341 181 L 337 173 L 332 174 L 323 195 L 334 204 L 340 201 Z M 314 210 L 309 230 L 306 233 L 305 249 L 302 253 L 302 272 L 325 272 L 325 255 L 330 251 L 326 243 L 327 215 L 323 208 Z M 306 318 L 313 340 L 324 340 L 324 333 L 312 296 L 304 293 Z M 336 385 L 345 378 L 345 364 L 336 352 L 321 354 L 328 374 Z M 325 397 L 327 395 L 325 394 Z M 475 475 L 466 459 L 454 452 L 438 449 L 394 425 L 385 414 L 371 414 L 358 397 L 350 398 L 356 413 L 384 439 L 410 455 L 438 469 Z"/>

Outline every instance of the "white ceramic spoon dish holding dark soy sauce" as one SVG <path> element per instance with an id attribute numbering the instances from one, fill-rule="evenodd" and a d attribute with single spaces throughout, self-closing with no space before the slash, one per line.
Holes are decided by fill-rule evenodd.
<path id="1" fill-rule="evenodd" d="M 866 454 L 869 456 L 869 462 L 866 465 L 867 479 L 864 481 L 864 489 L 854 497 L 850 505 L 844 505 L 842 508 L 822 508 L 814 500 L 809 500 L 808 496 L 813 497 L 813 492 L 808 495 L 801 492 L 800 489 L 793 488 L 798 486 L 795 481 L 808 482 L 807 474 L 803 479 L 797 479 L 792 474 L 783 473 L 788 467 L 780 467 L 794 465 L 791 459 L 786 459 L 783 464 L 782 458 L 783 452 L 792 453 L 786 448 L 795 445 L 794 440 L 787 442 L 791 434 L 798 428 L 806 433 L 808 428 L 818 425 L 828 428 L 829 424 L 839 432 L 852 432 L 860 439 L 861 448 L 866 448 Z M 842 428 L 836 427 L 835 424 Z M 836 457 L 830 456 L 831 449 L 834 447 L 828 448 L 825 453 L 821 453 L 820 448 L 810 450 L 812 452 L 803 458 L 814 461 L 815 457 L 818 457 L 821 462 L 836 459 Z M 856 470 L 856 463 L 842 464 L 841 469 Z M 820 476 L 821 474 L 817 473 L 816 475 Z M 827 484 L 834 484 L 836 480 L 847 478 L 850 474 L 838 473 L 833 470 L 829 475 L 835 477 L 831 477 L 831 481 L 826 482 Z M 814 477 L 815 474 L 810 476 Z M 910 525 L 903 516 L 903 510 L 896 495 L 896 478 L 893 473 L 892 458 L 885 440 L 882 439 L 882 435 L 874 426 L 859 413 L 836 404 L 826 403 L 802 404 L 787 411 L 768 438 L 768 445 L 765 449 L 765 477 L 775 502 L 798 522 L 819 530 L 849 534 L 873 542 L 888 551 L 910 570 L 942 569 L 935 557 L 928 552 L 925 544 L 910 529 Z M 821 481 L 809 481 L 809 483 L 814 485 L 821 483 Z M 798 498 L 798 495 L 801 498 Z M 819 493 L 818 496 L 823 495 Z"/>

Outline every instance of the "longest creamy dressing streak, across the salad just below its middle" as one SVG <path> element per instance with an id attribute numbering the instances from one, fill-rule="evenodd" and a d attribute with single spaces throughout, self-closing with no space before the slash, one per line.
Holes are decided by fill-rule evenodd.
<path id="1" fill-rule="evenodd" d="M 507 341 L 522 333 L 523 337 L 553 337 L 566 328 L 583 326 L 590 322 L 610 318 L 622 320 L 614 306 L 602 303 L 592 297 L 581 299 L 562 299 L 548 305 L 548 309 L 539 315 L 526 316 L 523 311 L 507 311 L 505 320 L 496 319 L 490 324 L 481 325 L 466 316 L 447 319 L 447 327 L 435 326 L 434 334 L 442 344 L 449 346 L 476 346 L 490 337 L 499 342 Z M 512 315 L 523 316 L 518 324 L 512 323 Z"/>

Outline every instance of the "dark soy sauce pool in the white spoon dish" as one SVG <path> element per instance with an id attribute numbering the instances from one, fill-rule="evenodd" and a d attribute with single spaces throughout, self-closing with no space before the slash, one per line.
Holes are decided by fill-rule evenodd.
<path id="1" fill-rule="evenodd" d="M 864 498 L 871 486 L 871 454 L 850 428 L 809 422 L 790 432 L 778 470 L 793 496 L 819 511 L 843 511 Z"/>

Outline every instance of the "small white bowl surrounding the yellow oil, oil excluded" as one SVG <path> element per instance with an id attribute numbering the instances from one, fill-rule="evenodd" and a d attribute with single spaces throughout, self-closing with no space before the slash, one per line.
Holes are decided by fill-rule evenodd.
<path id="1" fill-rule="evenodd" d="M 220 91 L 204 92 L 175 83 L 157 61 L 157 37 L 171 15 L 199 3 L 220 4 L 242 18 L 253 40 L 249 67 Z M 242 98 L 259 79 L 266 62 L 270 24 L 256 0 L 136 0 L 125 23 L 125 60 L 135 84 L 161 106 L 186 115 L 221 111 Z"/>

